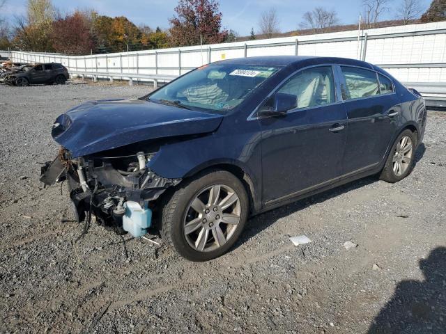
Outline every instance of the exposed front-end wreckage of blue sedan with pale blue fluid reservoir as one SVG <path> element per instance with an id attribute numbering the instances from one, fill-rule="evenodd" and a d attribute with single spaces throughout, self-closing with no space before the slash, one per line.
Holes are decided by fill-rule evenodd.
<path id="1" fill-rule="evenodd" d="M 106 228 L 141 237 L 152 225 L 154 201 L 180 182 L 160 177 L 147 167 L 154 155 L 141 151 L 73 159 L 61 148 L 56 159 L 42 167 L 40 181 L 46 185 L 67 182 L 78 222 L 93 214 Z"/>

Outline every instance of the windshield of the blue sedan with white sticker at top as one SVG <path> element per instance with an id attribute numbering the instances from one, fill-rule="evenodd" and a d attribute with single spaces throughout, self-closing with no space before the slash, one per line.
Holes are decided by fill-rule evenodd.
<path id="1" fill-rule="evenodd" d="M 277 70 L 277 66 L 204 65 L 160 88 L 149 100 L 228 113 Z"/>

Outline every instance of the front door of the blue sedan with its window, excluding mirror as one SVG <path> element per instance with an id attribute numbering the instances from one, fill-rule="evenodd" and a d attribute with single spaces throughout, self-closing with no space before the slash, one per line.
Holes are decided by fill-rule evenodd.
<path id="1" fill-rule="evenodd" d="M 339 177 L 346 142 L 347 116 L 337 102 L 332 66 L 301 70 L 277 93 L 295 95 L 297 108 L 284 116 L 259 118 L 266 205 Z"/>

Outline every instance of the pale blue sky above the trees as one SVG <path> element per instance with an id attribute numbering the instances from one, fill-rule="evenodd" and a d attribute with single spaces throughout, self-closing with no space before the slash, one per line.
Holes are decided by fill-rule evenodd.
<path id="1" fill-rule="evenodd" d="M 390 11 L 383 19 L 393 19 L 399 4 L 403 0 L 390 0 Z M 162 29 L 169 27 L 169 18 L 174 15 L 178 0 L 53 0 L 54 6 L 63 13 L 77 8 L 92 8 L 102 15 L 125 16 L 134 24 L 146 24 Z M 259 16 L 269 8 L 276 8 L 279 17 L 279 28 L 282 32 L 299 28 L 303 13 L 321 6 L 334 9 L 338 13 L 341 24 L 353 24 L 361 10 L 361 0 L 220 0 L 223 14 L 222 24 L 226 29 L 233 29 L 240 35 L 249 35 L 251 28 L 258 31 Z M 420 0 L 424 9 L 431 0 Z M 26 0 L 7 0 L 2 15 L 9 22 L 14 22 L 15 15 L 26 13 Z"/>

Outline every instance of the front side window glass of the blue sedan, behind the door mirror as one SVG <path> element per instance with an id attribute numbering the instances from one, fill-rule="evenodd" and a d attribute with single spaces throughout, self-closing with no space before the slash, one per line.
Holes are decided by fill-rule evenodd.
<path id="1" fill-rule="evenodd" d="M 295 95 L 298 108 L 332 103 L 335 101 L 332 67 L 302 70 L 286 81 L 277 93 Z"/>

